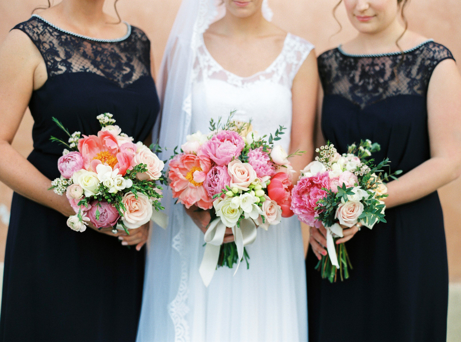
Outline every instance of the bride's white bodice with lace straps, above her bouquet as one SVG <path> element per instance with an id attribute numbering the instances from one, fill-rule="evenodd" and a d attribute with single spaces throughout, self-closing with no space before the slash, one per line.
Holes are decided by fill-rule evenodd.
<path id="1" fill-rule="evenodd" d="M 252 120 L 254 129 L 261 134 L 285 126 L 286 134 L 280 143 L 288 150 L 291 86 L 313 45 L 288 33 L 280 55 L 266 70 L 239 77 L 225 70 L 206 49 L 203 36 L 200 38 L 193 73 L 191 131 L 204 132 L 210 118 L 227 118 L 237 110 L 235 119 Z"/>

